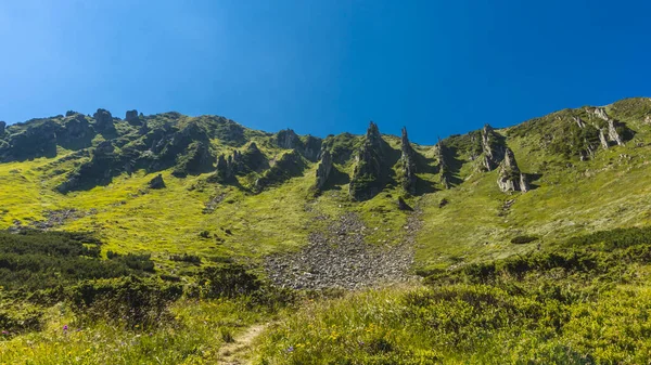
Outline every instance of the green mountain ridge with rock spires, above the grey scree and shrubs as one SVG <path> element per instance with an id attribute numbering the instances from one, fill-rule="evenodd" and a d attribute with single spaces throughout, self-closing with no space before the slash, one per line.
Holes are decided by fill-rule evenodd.
<path id="1" fill-rule="evenodd" d="M 0 227 L 16 221 L 42 225 L 52 211 L 76 209 L 79 218 L 73 214 L 54 229 L 90 227 L 108 242 L 107 249 L 154 251 L 163 266 L 178 265 L 166 257 L 188 250 L 254 260 L 295 250 L 307 242 L 314 217 L 322 213 L 356 212 L 367 226 L 391 230 L 372 231 L 370 242 L 397 244 L 409 213 L 399 208 L 419 204 L 425 208 L 417 268 L 499 258 L 595 222 L 604 227 L 633 222 L 593 220 L 589 201 L 576 199 L 610 188 L 602 180 L 613 174 L 643 174 L 651 155 L 644 142 L 651 141 L 651 101 L 646 97 L 605 108 L 563 109 L 505 129 L 486 127 L 434 146 L 411 143 L 407 130 L 403 136 L 380 134 L 374 125 L 367 135 L 321 140 L 291 130 L 255 131 L 216 116 L 129 110 L 126 120 L 108 118 L 103 109 L 92 118 L 66 115 L 3 131 L 0 205 L 8 211 L 0 214 Z M 580 180 L 571 181 L 579 174 Z M 151 188 L 158 175 L 155 185 L 165 187 Z M 646 187 L 634 181 L 621 186 L 630 201 L 639 200 L 629 213 L 642 224 Z M 571 193 L 575 187 L 579 194 Z M 591 200 L 616 211 L 615 196 Z M 570 203 L 575 213 L 585 211 L 575 214 L 583 218 L 573 224 L 551 209 L 570 209 Z M 611 208 L 604 209 L 611 214 Z M 468 211 L 477 221 L 467 220 Z M 514 223 L 505 223 L 510 219 Z M 289 229 L 279 232 L 279 225 Z M 132 237 L 128 232 L 133 231 L 148 236 Z M 196 238 L 204 231 L 210 237 Z M 539 238 L 510 244 L 527 235 Z"/>

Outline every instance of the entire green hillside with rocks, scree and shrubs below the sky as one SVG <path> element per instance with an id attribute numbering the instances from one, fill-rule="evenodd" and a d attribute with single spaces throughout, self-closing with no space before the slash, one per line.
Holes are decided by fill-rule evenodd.
<path id="1" fill-rule="evenodd" d="M 98 109 L 0 130 L 0 363 L 651 359 L 651 99 L 430 146 L 406 127 Z M 126 316 L 125 290 L 146 298 Z"/>

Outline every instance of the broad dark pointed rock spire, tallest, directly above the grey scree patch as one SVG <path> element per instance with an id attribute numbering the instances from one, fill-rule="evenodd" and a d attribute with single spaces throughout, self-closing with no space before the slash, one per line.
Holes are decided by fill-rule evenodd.
<path id="1" fill-rule="evenodd" d="M 383 169 L 384 152 L 380 130 L 370 122 L 363 144 L 356 156 L 355 171 L 348 194 L 355 200 L 366 200 L 382 191 L 386 171 Z"/>

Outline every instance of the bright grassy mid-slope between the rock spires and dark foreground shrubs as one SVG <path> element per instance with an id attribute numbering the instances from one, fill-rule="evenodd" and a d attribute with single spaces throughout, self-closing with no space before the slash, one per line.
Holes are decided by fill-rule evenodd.
<path id="1" fill-rule="evenodd" d="M 635 105 L 629 105 L 631 103 Z M 540 243 L 546 245 L 595 229 L 648 224 L 651 187 L 644 178 L 651 146 L 637 146 L 636 142 L 651 141 L 651 128 L 643 122 L 647 104 L 644 100 L 633 100 L 609 107 L 613 117 L 627 122 L 637 134 L 626 146 L 600 151 L 590 161 L 567 161 L 545 152 L 539 142 L 544 131 L 536 129 L 541 127 L 531 129 L 524 138 L 509 136 L 508 129 L 499 130 L 508 136 L 507 143 L 515 153 L 521 170 L 541 174 L 534 182 L 538 187 L 526 194 L 502 194 L 496 184 L 497 172 L 477 172 L 476 161 L 462 154 L 458 158 L 464 164 L 457 175 L 464 182 L 449 191 L 441 190 L 437 174 L 420 173 L 419 178 L 437 191 L 408 199 L 411 205 L 418 201 L 423 211 L 418 266 L 432 269 L 489 260 L 535 248 L 537 243 L 510 244 L 511 238 L 524 234 L 539 236 Z M 261 133 L 252 132 L 252 135 L 267 156 L 273 158 L 282 153 L 270 147 Z M 394 149 L 399 148 L 399 139 L 385 135 L 385 140 Z M 218 140 L 214 144 L 216 151 L 232 149 Z M 436 164 L 432 147 L 417 146 L 417 149 L 430 167 Z M 60 156 L 66 153 L 62 151 Z M 97 209 L 97 214 L 68 222 L 63 229 L 91 229 L 106 240 L 106 250 L 149 251 L 164 266 L 171 264 L 167 260 L 171 253 L 196 253 L 215 260 L 232 256 L 257 259 L 270 252 L 296 249 L 306 243 L 315 224 L 320 224 L 315 217 L 335 217 L 344 211 L 360 213 L 371 227 L 370 242 L 398 242 L 404 234 L 406 214 L 395 209 L 395 199 L 403 194 L 398 184 L 387 186 L 365 203 L 350 201 L 345 183 L 314 198 L 310 187 L 316 164 L 309 164 L 303 177 L 259 195 L 207 184 L 205 174 L 177 179 L 170 175 L 170 170 L 163 172 L 168 187 L 146 194 L 141 191 L 153 175 L 142 171 L 117 177 L 112 184 L 87 192 L 68 195 L 53 192 L 64 178 L 55 172 L 69 170 L 73 164 L 74 160 L 58 164 L 43 158 L 1 164 L 0 229 L 12 224 L 14 219 L 24 222 L 43 219 L 42 213 L 48 209 Z M 573 167 L 567 168 L 566 164 Z M 349 175 L 353 172 L 352 160 L 337 167 Z M 426 170 L 431 170 L 430 167 Z M 252 179 L 242 181 L 246 184 Z M 225 194 L 224 201 L 215 211 L 203 214 L 204 205 L 221 194 Z M 438 208 L 443 198 L 450 203 Z M 514 204 L 508 212 L 502 211 L 505 201 L 510 199 L 514 199 Z M 202 231 L 208 231 L 212 237 L 200 237 Z M 224 242 L 219 242 L 221 239 Z"/>

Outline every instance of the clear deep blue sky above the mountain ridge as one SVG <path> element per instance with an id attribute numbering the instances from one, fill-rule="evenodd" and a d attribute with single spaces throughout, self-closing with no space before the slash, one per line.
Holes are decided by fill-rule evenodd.
<path id="1" fill-rule="evenodd" d="M 1 1 L 0 120 L 177 110 L 412 140 L 651 96 L 651 1 Z"/>

